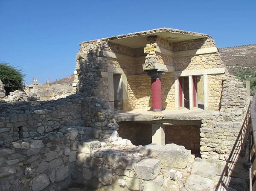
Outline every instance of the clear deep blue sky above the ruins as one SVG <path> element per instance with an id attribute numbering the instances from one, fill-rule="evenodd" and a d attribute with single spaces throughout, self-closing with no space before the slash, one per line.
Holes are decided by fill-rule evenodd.
<path id="1" fill-rule="evenodd" d="M 256 0 L 0 0 L 0 62 L 54 81 L 73 74 L 79 43 L 162 27 L 256 44 Z"/>

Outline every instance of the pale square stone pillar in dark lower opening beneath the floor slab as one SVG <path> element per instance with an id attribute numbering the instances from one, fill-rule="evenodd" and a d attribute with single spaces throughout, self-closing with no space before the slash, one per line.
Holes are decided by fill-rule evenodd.
<path id="1" fill-rule="evenodd" d="M 152 143 L 165 145 L 165 133 L 163 124 L 152 124 Z"/>

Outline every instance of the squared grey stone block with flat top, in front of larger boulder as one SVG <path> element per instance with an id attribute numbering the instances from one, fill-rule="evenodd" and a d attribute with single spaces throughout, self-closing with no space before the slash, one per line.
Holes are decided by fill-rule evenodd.
<path id="1" fill-rule="evenodd" d="M 143 159 L 135 165 L 137 177 L 143 180 L 154 180 L 160 170 L 161 161 L 157 159 Z"/>

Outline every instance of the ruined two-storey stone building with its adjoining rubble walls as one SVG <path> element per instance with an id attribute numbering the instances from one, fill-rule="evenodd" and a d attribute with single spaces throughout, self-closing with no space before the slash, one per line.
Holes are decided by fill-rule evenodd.
<path id="1" fill-rule="evenodd" d="M 251 101 L 212 37 L 162 28 L 80 46 L 77 94 L 0 103 L 1 191 L 248 190 Z"/>

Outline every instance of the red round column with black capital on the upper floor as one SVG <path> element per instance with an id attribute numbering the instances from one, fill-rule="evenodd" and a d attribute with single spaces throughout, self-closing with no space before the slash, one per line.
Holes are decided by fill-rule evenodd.
<path id="1" fill-rule="evenodd" d="M 149 70 L 148 76 L 151 77 L 152 105 L 153 112 L 162 111 L 162 75 L 163 71 Z"/>

